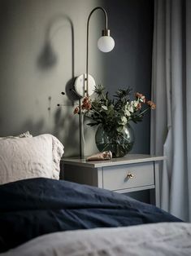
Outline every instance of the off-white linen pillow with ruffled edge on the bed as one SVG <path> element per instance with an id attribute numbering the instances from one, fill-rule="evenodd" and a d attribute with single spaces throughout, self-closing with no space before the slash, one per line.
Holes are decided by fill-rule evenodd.
<path id="1" fill-rule="evenodd" d="M 63 144 L 53 135 L 0 139 L 0 184 L 20 179 L 59 179 Z"/>

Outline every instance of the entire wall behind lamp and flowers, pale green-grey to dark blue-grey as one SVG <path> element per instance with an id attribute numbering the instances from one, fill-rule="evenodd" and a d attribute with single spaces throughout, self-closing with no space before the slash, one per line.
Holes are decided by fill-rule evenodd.
<path id="1" fill-rule="evenodd" d="M 86 23 L 97 6 L 108 12 L 115 50 L 98 51 L 103 20 L 97 11 L 90 20 L 89 73 L 111 95 L 132 86 L 150 97 L 153 1 L 0 0 L 0 136 L 51 133 L 66 156 L 79 154 L 78 117 L 60 93 L 85 73 Z M 150 115 L 134 129 L 133 152 L 149 152 Z M 93 138 L 85 126 L 86 154 L 97 151 Z"/>

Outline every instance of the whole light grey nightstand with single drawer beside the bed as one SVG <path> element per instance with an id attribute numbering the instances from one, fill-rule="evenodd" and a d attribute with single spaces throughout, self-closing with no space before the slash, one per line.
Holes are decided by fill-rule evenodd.
<path id="1" fill-rule="evenodd" d="M 106 161 L 63 159 L 64 179 L 119 193 L 154 190 L 154 203 L 160 204 L 158 163 L 165 157 L 128 154 Z"/>

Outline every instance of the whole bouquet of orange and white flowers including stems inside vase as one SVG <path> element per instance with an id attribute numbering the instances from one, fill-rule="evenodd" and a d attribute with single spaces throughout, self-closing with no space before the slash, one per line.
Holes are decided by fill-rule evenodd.
<path id="1" fill-rule="evenodd" d="M 135 123 L 142 121 L 145 113 L 155 109 L 156 105 L 138 92 L 131 100 L 132 89 L 129 87 L 126 90 L 117 90 L 113 99 L 109 98 L 108 91 L 105 92 L 103 86 L 96 86 L 94 92 L 97 97 L 95 99 L 85 97 L 81 106 L 74 109 L 74 113 L 83 113 L 85 117 L 92 120 L 88 123 L 89 126 L 102 126 L 102 130 L 109 138 L 106 143 L 102 142 L 104 148 L 98 148 L 100 151 L 112 149 L 115 143 L 115 147 L 120 148 L 124 155 L 132 148 L 129 138 L 125 135 L 127 134 L 125 128 L 129 126 L 130 121 Z M 112 151 L 114 153 L 115 150 L 112 149 Z"/>

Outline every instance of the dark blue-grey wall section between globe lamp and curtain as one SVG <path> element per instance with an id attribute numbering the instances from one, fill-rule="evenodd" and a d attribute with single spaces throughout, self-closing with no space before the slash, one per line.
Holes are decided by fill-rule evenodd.
<path id="1" fill-rule="evenodd" d="M 132 91 L 150 99 L 154 1 L 111 0 L 106 6 L 111 16 L 109 26 L 115 37 L 115 51 L 105 56 L 106 85 L 111 95 L 118 87 L 131 86 Z M 132 152 L 150 153 L 150 114 L 132 124 L 136 143 Z"/>

